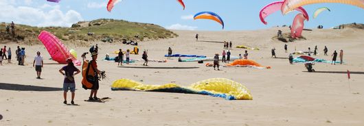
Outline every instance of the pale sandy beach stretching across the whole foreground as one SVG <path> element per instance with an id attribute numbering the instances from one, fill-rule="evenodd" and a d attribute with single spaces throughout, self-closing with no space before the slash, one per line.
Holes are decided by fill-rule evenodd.
<path id="1" fill-rule="evenodd" d="M 139 50 L 148 49 L 150 59 L 166 60 L 163 55 L 168 53 L 168 47 L 173 53 L 213 57 L 214 53 L 223 52 L 223 44 L 218 42 L 232 41 L 231 55 L 238 56 L 246 50 L 235 48 L 238 45 L 258 47 L 260 51 L 247 50 L 249 59 L 271 66 L 271 69 L 222 67 L 222 71 L 214 71 L 212 67 L 197 62 L 177 62 L 177 58 L 166 63 L 149 62 L 148 65 L 199 68 L 120 68 L 115 62 L 103 61 L 104 55 L 109 53 L 115 57 L 113 51 L 133 49 L 133 46 L 119 42 L 93 42 L 92 45 L 98 43 L 100 46 L 98 67 L 107 75 L 100 81 L 98 97 L 111 99 L 105 103 L 85 102 L 90 91 L 82 88 L 82 77 L 77 75 L 75 102 L 78 105 L 62 103 L 63 76 L 58 70 L 65 65 L 49 60 L 50 55 L 41 42 L 32 46 L 5 44 L 13 51 L 18 45 L 25 47 L 27 58 L 25 66 L 18 66 L 16 60 L 11 64 L 4 60 L 0 66 L 0 114 L 3 116 L 0 125 L 364 125 L 364 31 L 313 29 L 303 32 L 307 40 L 284 43 L 272 40 L 278 29 L 284 33 L 289 30 L 288 27 L 274 27 L 255 31 L 174 31 L 179 37 L 139 42 Z M 194 38 L 197 33 L 200 35 L 198 42 Z M 288 45 L 288 53 L 284 53 L 284 44 Z M 295 49 L 307 51 L 310 47 L 313 50 L 316 45 L 319 55 L 315 58 L 330 60 L 331 57 L 324 56 L 322 51 L 328 46 L 329 55 L 334 50 L 343 49 L 345 63 L 317 63 L 314 66 L 317 72 L 308 73 L 304 64 L 290 65 L 286 59 Z M 75 49 L 78 55 L 89 51 L 89 47 L 67 47 Z M 273 47 L 277 49 L 278 58 L 271 58 Z M 41 51 L 44 58 L 43 79 L 36 79 L 32 67 L 36 51 Z M 91 59 L 90 55 L 87 58 Z M 131 58 L 141 60 L 141 55 L 131 55 Z M 350 81 L 347 70 L 352 71 Z M 253 100 L 228 101 L 207 95 L 111 91 L 113 81 L 121 78 L 143 84 L 172 82 L 189 86 L 215 77 L 244 84 L 251 91 Z"/>

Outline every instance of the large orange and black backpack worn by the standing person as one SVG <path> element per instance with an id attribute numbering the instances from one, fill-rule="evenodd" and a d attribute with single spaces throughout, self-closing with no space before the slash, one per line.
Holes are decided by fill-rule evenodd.
<path id="1" fill-rule="evenodd" d="M 91 60 L 92 61 L 92 60 Z M 98 78 L 95 77 L 95 68 L 91 65 L 89 60 L 86 60 L 82 64 L 82 88 L 91 89 Z"/>

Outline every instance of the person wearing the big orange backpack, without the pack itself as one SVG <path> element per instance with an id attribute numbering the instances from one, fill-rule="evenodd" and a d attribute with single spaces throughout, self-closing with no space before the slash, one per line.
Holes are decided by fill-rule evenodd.
<path id="1" fill-rule="evenodd" d="M 90 64 L 91 64 L 91 67 L 95 70 L 95 73 L 94 73 L 95 74 L 95 83 L 93 84 L 93 86 L 91 88 L 89 101 L 100 100 L 97 97 L 98 90 L 99 90 L 99 79 L 98 78 L 101 76 L 101 72 L 98 69 L 98 63 L 96 62 L 96 60 L 98 59 L 98 53 L 93 52 L 93 53 L 91 53 L 91 55 L 92 55 L 92 60 L 90 61 Z"/>

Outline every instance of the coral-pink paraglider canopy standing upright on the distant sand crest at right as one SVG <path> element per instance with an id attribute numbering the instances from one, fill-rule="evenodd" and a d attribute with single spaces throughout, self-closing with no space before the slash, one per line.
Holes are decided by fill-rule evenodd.
<path id="1" fill-rule="evenodd" d="M 295 19 L 293 19 L 293 24 L 291 27 L 291 37 L 292 38 L 299 38 L 302 35 L 302 30 L 304 30 L 304 21 L 305 21 L 304 14 L 297 14 Z"/>

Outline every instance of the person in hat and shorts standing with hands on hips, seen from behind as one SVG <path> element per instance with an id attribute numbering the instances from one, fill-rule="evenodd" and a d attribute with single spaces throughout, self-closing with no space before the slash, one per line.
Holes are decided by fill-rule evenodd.
<path id="1" fill-rule="evenodd" d="M 65 76 L 65 79 L 63 79 L 63 101 L 64 104 L 67 104 L 67 92 L 68 90 L 71 91 L 71 104 L 74 105 L 74 99 L 75 99 L 75 90 L 76 90 L 76 82 L 75 82 L 75 75 L 78 75 L 81 71 L 76 68 L 72 62 L 71 59 L 67 60 L 68 65 L 63 66 L 60 68 L 59 72 Z M 63 72 L 65 71 L 65 72 Z M 76 72 L 76 73 L 75 73 Z"/>

